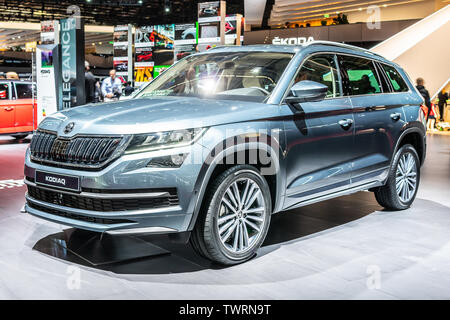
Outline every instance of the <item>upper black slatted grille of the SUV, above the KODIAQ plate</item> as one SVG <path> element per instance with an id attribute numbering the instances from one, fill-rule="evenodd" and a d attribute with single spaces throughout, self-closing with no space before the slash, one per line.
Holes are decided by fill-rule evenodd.
<path id="1" fill-rule="evenodd" d="M 58 137 L 37 131 L 30 144 L 31 160 L 57 167 L 102 168 L 120 145 L 122 137 Z"/>

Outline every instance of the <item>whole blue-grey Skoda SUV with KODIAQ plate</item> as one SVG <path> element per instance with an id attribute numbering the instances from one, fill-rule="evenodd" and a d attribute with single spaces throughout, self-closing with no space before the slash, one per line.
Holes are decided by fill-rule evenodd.
<path id="1" fill-rule="evenodd" d="M 408 208 L 422 103 L 400 66 L 357 47 L 214 48 L 131 100 L 45 118 L 26 153 L 26 210 L 97 232 L 188 235 L 204 257 L 239 263 L 277 212 L 360 190 Z"/>

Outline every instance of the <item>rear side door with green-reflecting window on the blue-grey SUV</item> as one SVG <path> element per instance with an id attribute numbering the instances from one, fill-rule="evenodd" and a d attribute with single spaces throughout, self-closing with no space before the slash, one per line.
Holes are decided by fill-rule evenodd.
<path id="1" fill-rule="evenodd" d="M 402 106 L 376 62 L 349 55 L 339 55 L 339 61 L 355 119 L 352 184 L 383 180 L 405 124 Z"/>

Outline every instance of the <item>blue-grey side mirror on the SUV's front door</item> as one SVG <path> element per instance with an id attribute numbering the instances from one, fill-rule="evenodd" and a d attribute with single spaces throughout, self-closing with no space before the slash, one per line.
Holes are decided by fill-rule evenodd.
<path id="1" fill-rule="evenodd" d="M 325 99 L 328 87 L 322 83 L 303 80 L 294 84 L 291 88 L 292 96 L 286 98 L 286 103 L 314 102 Z"/>

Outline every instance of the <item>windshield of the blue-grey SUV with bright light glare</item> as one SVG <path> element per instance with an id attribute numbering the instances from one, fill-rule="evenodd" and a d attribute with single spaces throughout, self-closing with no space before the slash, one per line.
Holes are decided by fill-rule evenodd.
<path id="1" fill-rule="evenodd" d="M 155 78 L 136 97 L 175 95 L 264 101 L 292 56 L 274 52 L 189 56 Z"/>

